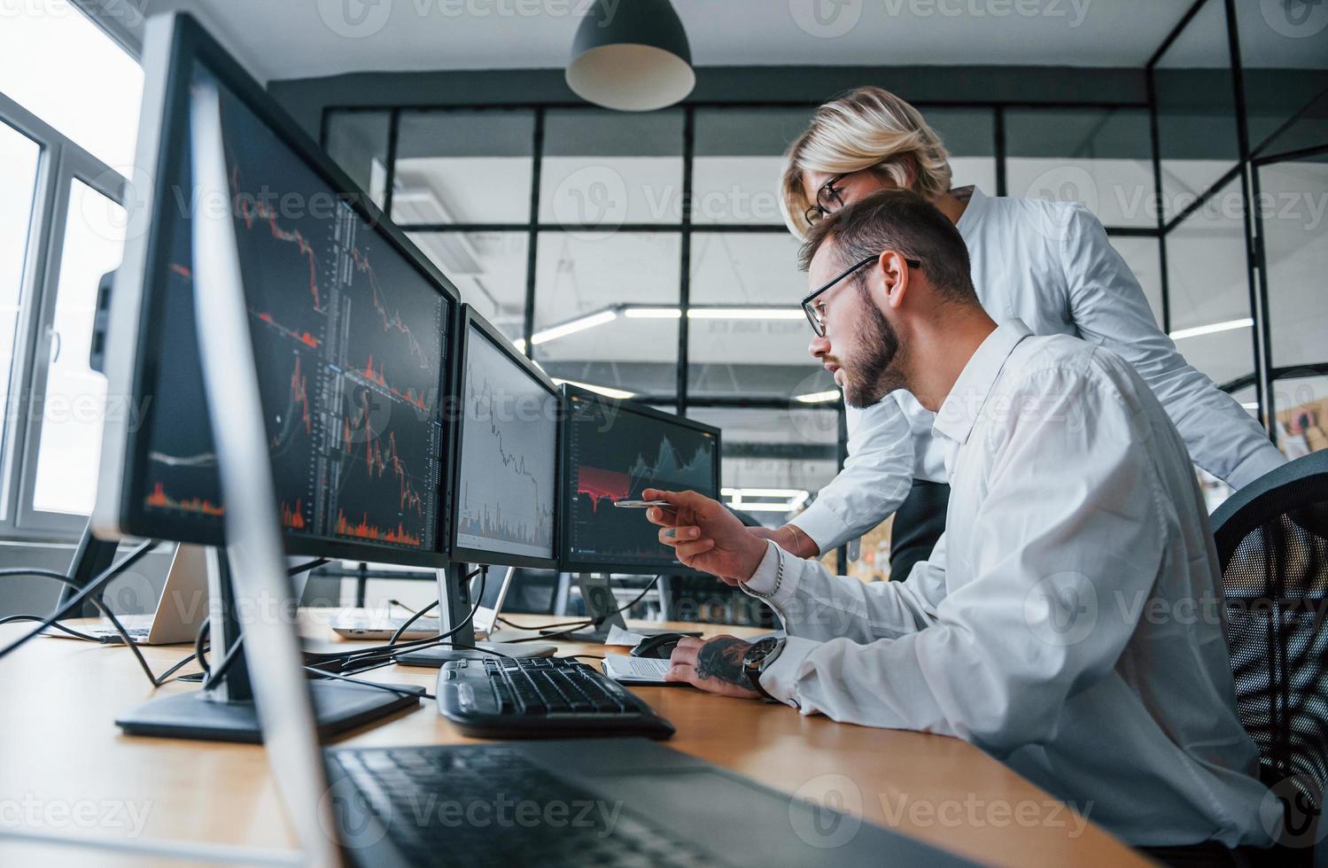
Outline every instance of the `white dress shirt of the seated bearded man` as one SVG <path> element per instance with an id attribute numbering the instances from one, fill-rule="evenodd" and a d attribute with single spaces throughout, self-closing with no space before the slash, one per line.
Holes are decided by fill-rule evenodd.
<path id="1" fill-rule="evenodd" d="M 936 414 L 946 534 L 907 583 L 770 543 L 745 583 L 803 714 L 967 739 L 1134 845 L 1267 845 L 1190 455 L 1118 356 L 1019 320 Z"/>

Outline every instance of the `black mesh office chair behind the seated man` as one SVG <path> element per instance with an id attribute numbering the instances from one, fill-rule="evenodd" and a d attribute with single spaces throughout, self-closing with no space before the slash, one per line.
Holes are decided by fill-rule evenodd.
<path id="1" fill-rule="evenodd" d="M 1236 711 L 1288 835 L 1308 843 L 1328 784 L 1328 451 L 1266 474 L 1211 522 Z"/>

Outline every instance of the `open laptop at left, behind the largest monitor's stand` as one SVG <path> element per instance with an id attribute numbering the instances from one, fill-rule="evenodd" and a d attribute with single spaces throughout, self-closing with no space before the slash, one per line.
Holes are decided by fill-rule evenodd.
<path id="1" fill-rule="evenodd" d="M 135 645 L 193 642 L 199 626 L 207 621 L 207 549 L 185 543 L 177 545 L 157 609 L 151 615 L 117 615 L 116 618 Z M 106 644 L 125 641 L 108 618 L 80 632 Z M 77 638 L 54 628 L 45 634 Z"/>

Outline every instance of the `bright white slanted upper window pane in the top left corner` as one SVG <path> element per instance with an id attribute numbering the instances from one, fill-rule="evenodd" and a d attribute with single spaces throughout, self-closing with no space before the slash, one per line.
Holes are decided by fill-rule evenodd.
<path id="1" fill-rule="evenodd" d="M 64 0 L 0 12 L 0 93 L 121 174 L 130 174 L 143 73 Z"/>

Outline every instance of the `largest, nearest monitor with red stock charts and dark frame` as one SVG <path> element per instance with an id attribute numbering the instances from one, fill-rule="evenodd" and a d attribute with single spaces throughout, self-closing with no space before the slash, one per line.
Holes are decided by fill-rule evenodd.
<path id="1" fill-rule="evenodd" d="M 210 81 L 286 548 L 445 565 L 457 291 L 195 23 L 154 61 L 106 357 L 134 413 L 106 426 L 94 527 L 223 542 L 191 288 L 191 215 L 216 203 L 194 200 L 189 100 Z"/>

